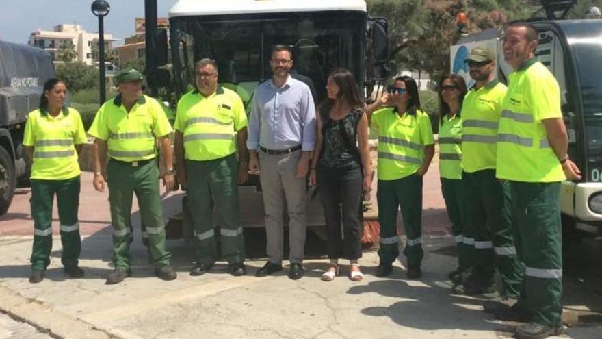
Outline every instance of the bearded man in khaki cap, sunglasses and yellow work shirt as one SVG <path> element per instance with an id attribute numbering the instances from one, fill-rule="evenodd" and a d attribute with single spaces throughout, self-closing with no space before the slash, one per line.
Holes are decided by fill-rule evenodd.
<path id="1" fill-rule="evenodd" d="M 466 62 L 476 81 L 462 104 L 462 168 L 469 194 L 469 234 L 462 242 L 472 248 L 470 275 L 451 279 L 458 294 L 494 291 L 495 269 L 501 275 L 502 300 L 512 302 L 519 295 L 521 266 L 512 237 L 510 190 L 507 182 L 495 178 L 497 126 L 501 102 L 507 88 L 495 79 L 495 55 L 486 47 L 472 49 Z"/>

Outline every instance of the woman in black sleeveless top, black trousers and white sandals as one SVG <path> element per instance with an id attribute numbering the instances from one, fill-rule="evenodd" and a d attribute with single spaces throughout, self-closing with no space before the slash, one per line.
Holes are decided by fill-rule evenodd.
<path id="1" fill-rule="evenodd" d="M 309 173 L 310 185 L 319 186 L 328 228 L 330 265 L 322 280 L 335 279 L 339 258 L 345 258 L 350 260 L 350 279 L 359 281 L 363 278 L 358 265 L 362 189 L 371 186 L 368 118 L 350 71 L 337 68 L 330 72 L 326 90 L 328 99 L 316 114 L 317 142 Z"/>

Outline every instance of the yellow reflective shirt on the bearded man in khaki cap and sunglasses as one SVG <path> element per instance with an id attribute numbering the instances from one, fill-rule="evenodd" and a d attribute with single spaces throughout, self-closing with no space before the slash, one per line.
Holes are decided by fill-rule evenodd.
<path id="1" fill-rule="evenodd" d="M 467 173 L 495 169 L 501 103 L 508 88 L 497 79 L 471 88 L 462 103 L 462 168 Z"/>

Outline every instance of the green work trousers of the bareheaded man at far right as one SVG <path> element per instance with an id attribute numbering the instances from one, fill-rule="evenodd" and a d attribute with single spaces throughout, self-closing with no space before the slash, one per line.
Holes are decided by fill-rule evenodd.
<path id="1" fill-rule="evenodd" d="M 555 327 L 562 323 L 562 225 L 560 182 L 510 181 L 516 218 L 516 249 L 525 264 L 519 305 L 532 321 Z"/>

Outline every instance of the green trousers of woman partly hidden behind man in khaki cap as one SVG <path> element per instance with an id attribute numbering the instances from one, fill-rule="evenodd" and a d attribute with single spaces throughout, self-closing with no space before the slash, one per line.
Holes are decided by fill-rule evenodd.
<path id="1" fill-rule="evenodd" d="M 467 190 L 466 182 L 462 179 L 441 178 L 441 192 L 445 200 L 447 216 L 451 221 L 451 233 L 454 234 L 456 247 L 458 247 L 458 268 L 461 270 L 471 268 L 474 246 L 464 243 L 464 236 L 472 238 L 467 227 Z"/>

